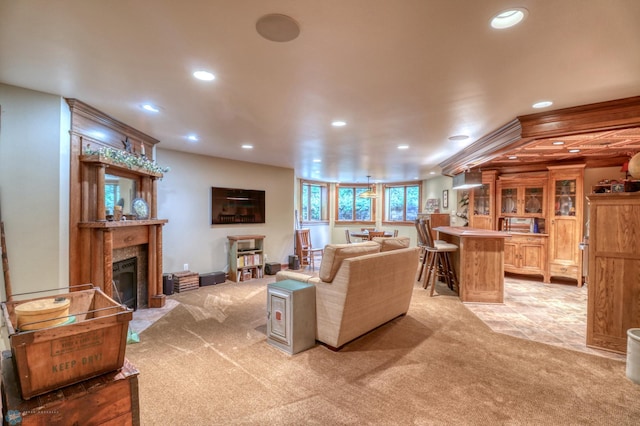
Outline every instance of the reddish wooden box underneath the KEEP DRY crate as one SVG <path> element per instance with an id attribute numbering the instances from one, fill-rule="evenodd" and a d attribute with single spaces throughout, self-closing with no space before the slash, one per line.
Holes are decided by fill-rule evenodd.
<path id="1" fill-rule="evenodd" d="M 8 358 L 6 353 L 8 353 Z M 24 400 L 11 353 L 2 360 L 2 417 L 5 424 L 139 425 L 138 370 L 125 359 L 122 368 Z"/>

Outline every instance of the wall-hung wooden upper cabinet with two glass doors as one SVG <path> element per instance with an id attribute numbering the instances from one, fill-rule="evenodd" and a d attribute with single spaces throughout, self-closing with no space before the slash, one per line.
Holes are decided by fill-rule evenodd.
<path id="1" fill-rule="evenodd" d="M 500 176 L 497 183 L 498 215 L 544 218 L 546 215 L 546 173 Z"/>

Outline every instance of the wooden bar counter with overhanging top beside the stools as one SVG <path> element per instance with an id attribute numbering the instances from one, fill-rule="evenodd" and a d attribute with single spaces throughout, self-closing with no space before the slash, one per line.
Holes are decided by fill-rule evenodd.
<path id="1" fill-rule="evenodd" d="M 438 239 L 458 246 L 452 260 L 463 302 L 504 302 L 504 239 L 506 232 L 460 226 L 434 228 Z"/>

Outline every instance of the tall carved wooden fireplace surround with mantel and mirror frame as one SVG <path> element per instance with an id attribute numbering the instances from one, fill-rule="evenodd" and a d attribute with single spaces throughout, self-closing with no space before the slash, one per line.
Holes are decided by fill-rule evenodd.
<path id="1" fill-rule="evenodd" d="M 118 259 L 121 250 L 136 250 L 138 304 L 162 307 L 162 228 L 168 222 L 157 218 L 157 184 L 162 173 L 96 154 L 109 148 L 129 158 L 153 160 L 153 147 L 159 141 L 81 101 L 66 101 L 71 110 L 70 285 L 91 283 L 113 298 L 113 263 L 122 260 Z M 148 218 L 107 220 L 106 174 L 135 182 L 135 197 L 148 204 Z"/>

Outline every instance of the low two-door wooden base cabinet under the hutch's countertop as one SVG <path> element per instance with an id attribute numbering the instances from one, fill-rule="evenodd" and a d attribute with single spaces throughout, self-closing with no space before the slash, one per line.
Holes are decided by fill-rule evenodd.
<path id="1" fill-rule="evenodd" d="M 547 275 L 547 236 L 511 234 L 504 241 L 504 270 L 517 274 Z"/>

